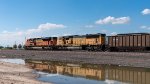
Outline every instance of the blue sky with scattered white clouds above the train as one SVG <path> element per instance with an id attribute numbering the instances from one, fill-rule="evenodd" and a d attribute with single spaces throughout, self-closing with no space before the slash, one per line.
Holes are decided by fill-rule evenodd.
<path id="1" fill-rule="evenodd" d="M 150 0 L 0 0 L 0 45 L 30 37 L 150 32 Z"/>

